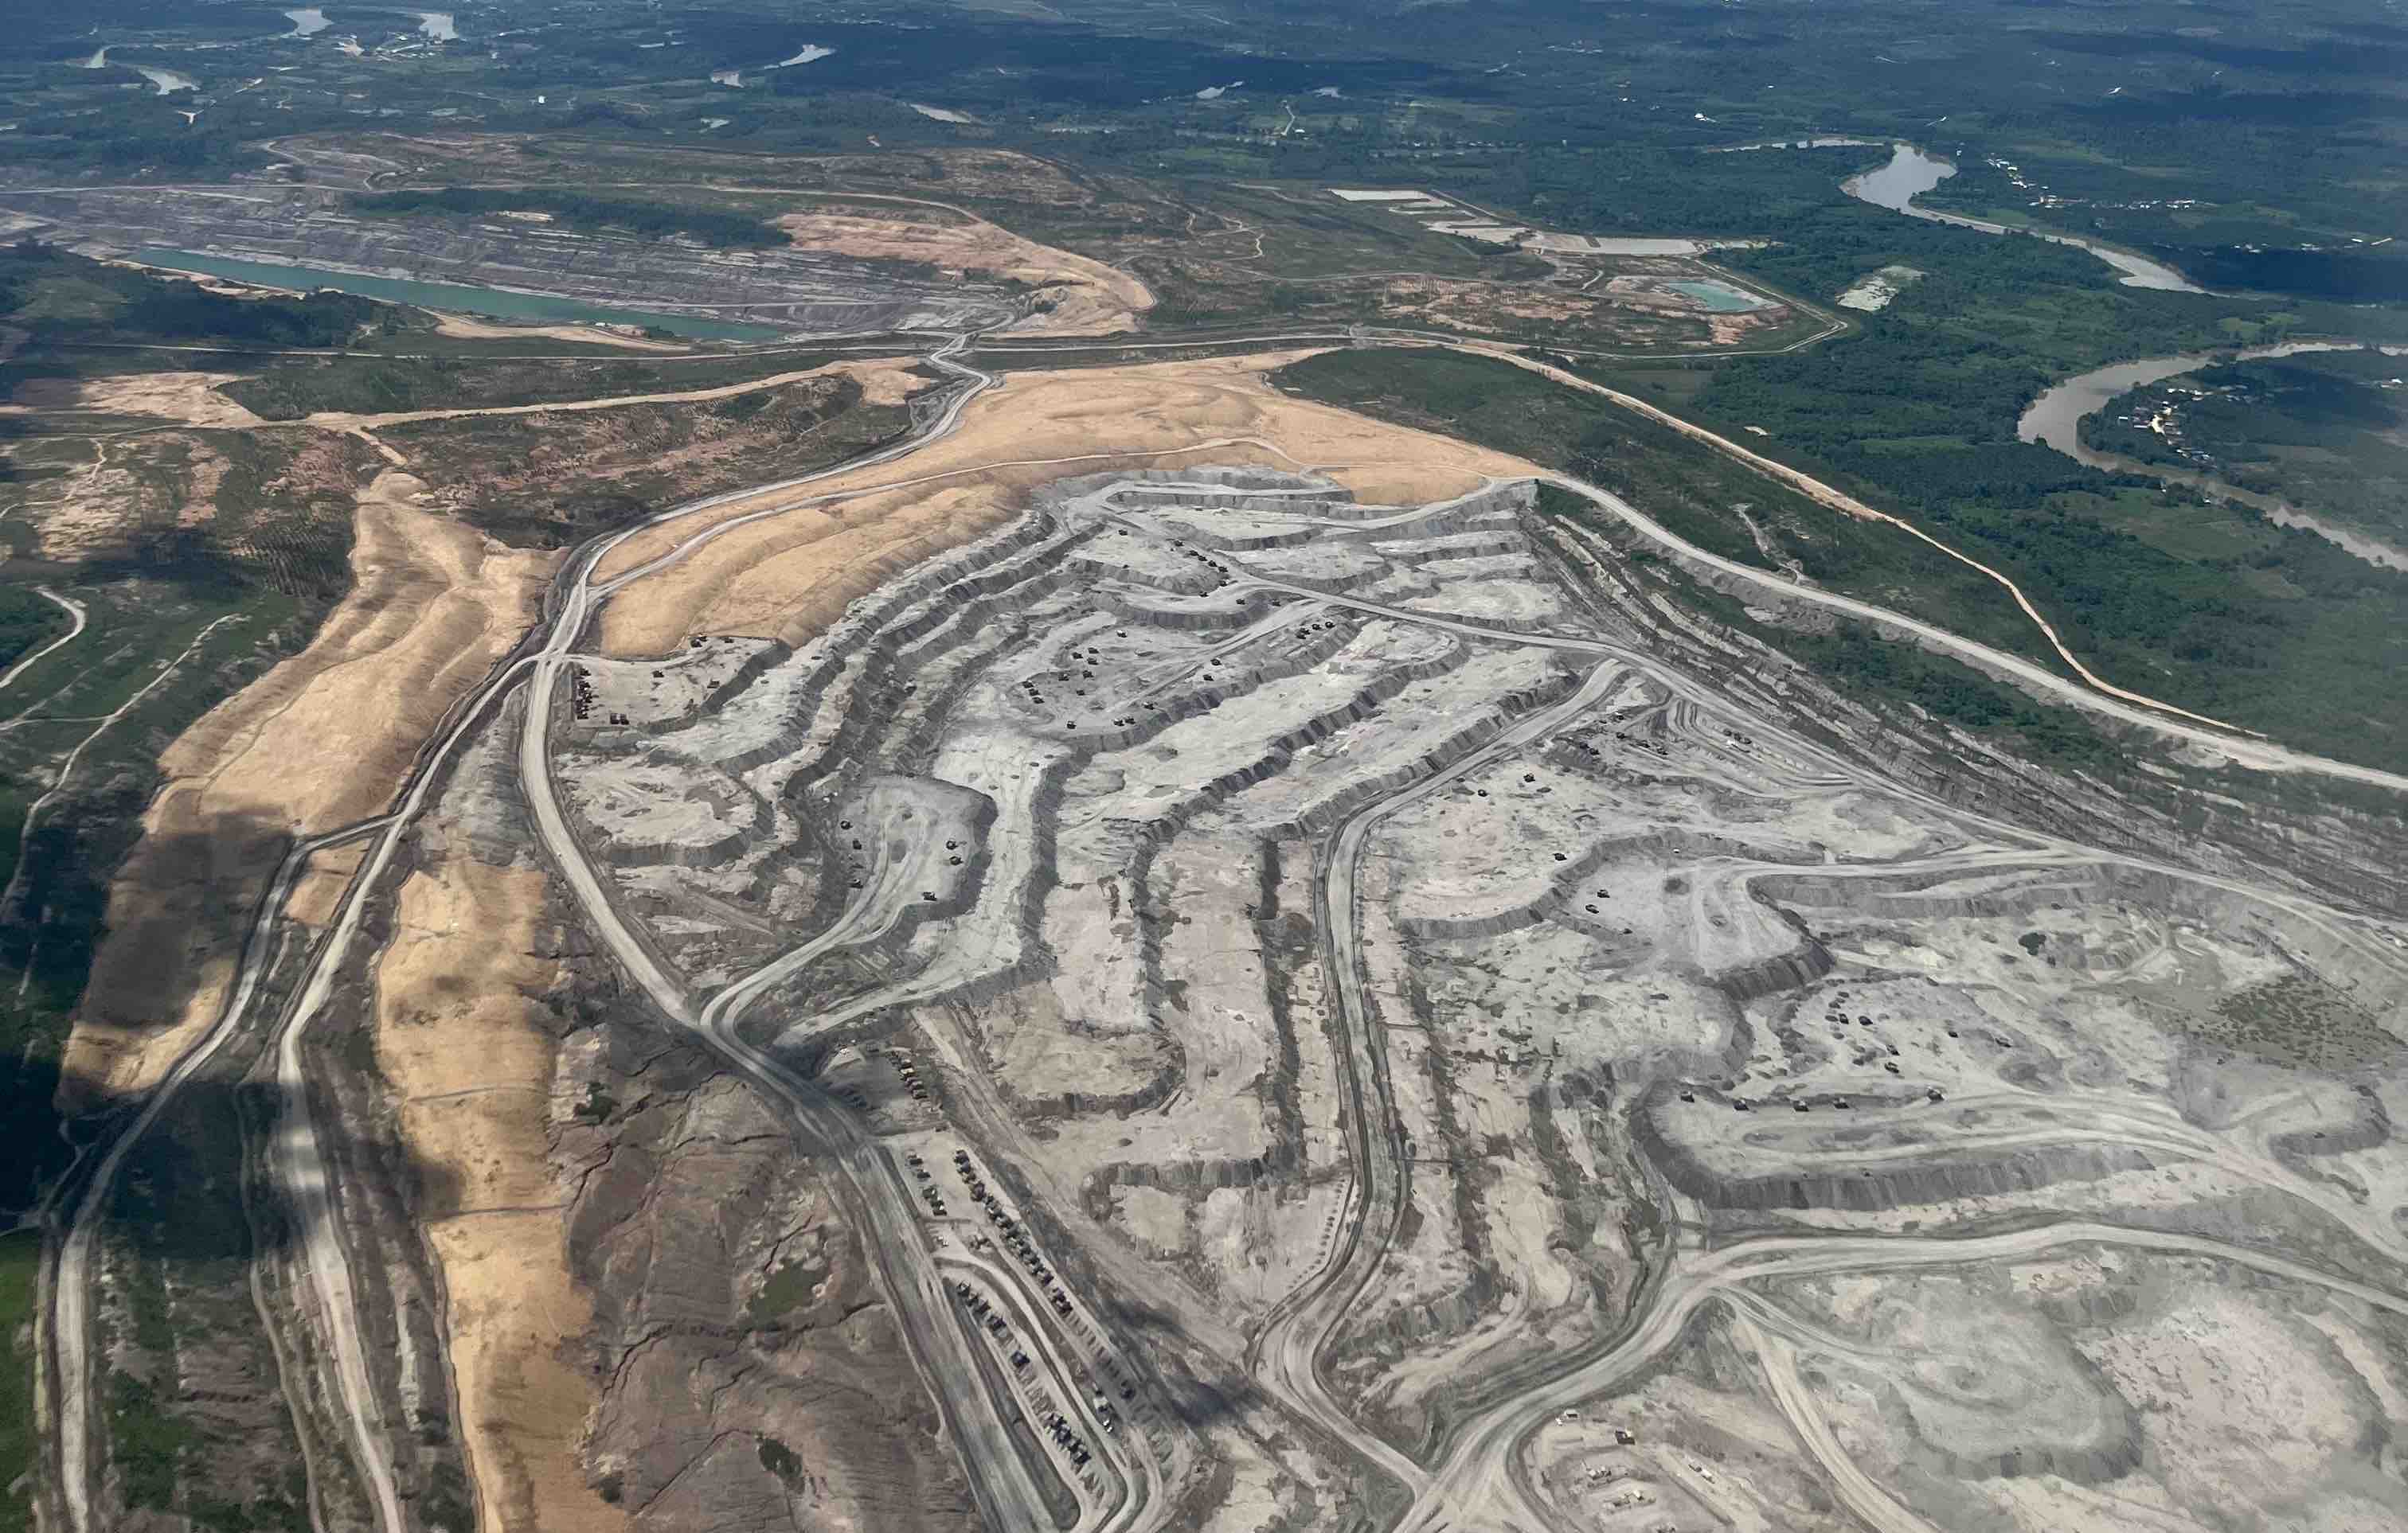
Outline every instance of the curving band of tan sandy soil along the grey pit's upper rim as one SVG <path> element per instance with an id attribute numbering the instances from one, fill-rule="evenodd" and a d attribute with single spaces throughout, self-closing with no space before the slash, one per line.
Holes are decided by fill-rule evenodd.
<path id="1" fill-rule="evenodd" d="M 1488 474 L 1534 472 L 1503 452 L 1291 399 L 1264 383 L 1298 356 L 1014 375 L 975 399 L 954 436 L 901 462 L 631 537 L 604 561 L 604 578 L 715 520 L 869 491 L 766 517 L 638 580 L 602 611 L 602 645 L 612 655 L 660 655 L 689 633 L 797 643 L 896 570 L 995 527 L 1031 486 L 1067 474 L 1204 462 L 1305 467 L 1332 472 L 1365 501 L 1428 501 L 1476 489 Z"/>

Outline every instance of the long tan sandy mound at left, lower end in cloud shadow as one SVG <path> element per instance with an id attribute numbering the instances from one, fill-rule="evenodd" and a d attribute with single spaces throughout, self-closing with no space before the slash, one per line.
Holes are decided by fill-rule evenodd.
<path id="1" fill-rule="evenodd" d="M 443 710 L 535 621 L 551 554 L 515 554 L 409 505 L 359 501 L 354 590 L 301 652 L 183 732 L 108 893 L 108 936 L 67 1042 L 77 1093 L 137 1090 L 205 1028 L 243 912 L 282 842 L 378 813 Z"/>

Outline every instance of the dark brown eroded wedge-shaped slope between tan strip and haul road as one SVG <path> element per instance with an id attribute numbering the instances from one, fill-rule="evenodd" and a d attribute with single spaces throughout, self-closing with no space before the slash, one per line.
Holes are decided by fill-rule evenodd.
<path id="1" fill-rule="evenodd" d="M 578 1521 L 549 1497 L 544 1516 L 718 1533 L 785 1526 L 802 1497 L 860 1528 L 975 1528 L 958 1466 L 920 1449 L 942 1425 L 819 1172 L 578 927 L 566 941 L 554 1174 L 563 1261 L 595 1304 L 590 1350 L 568 1362 L 600 1408 L 583 1463 L 537 1468 L 621 1511 Z M 828 1275 L 773 1285 L 785 1268 Z"/>

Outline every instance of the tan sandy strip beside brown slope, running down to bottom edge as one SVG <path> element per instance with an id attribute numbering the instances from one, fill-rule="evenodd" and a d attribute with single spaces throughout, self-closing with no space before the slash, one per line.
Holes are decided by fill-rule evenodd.
<path id="1" fill-rule="evenodd" d="M 597 1405 L 571 1348 L 592 1304 L 568 1275 L 551 1177 L 551 1035 L 537 953 L 544 876 L 450 857 L 402 886 L 376 972 L 376 1061 L 400 1095 L 402 1143 L 438 1206 L 445 1326 L 479 1526 L 607 1533 L 626 1516 L 578 1466 Z"/>

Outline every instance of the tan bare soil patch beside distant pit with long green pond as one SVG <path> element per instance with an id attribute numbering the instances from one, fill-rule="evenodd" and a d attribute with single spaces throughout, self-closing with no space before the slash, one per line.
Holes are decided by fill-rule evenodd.
<path id="1" fill-rule="evenodd" d="M 1040 286 L 1055 308 L 1014 325 L 1021 335 L 1112 335 L 1134 330 L 1137 315 L 1153 308 L 1146 284 L 1120 267 L 1040 245 L 958 207 L 946 212 L 961 221 L 797 212 L 778 219 L 778 229 L 811 250 L 864 260 L 932 260 L 949 272 L 985 272 Z"/>

